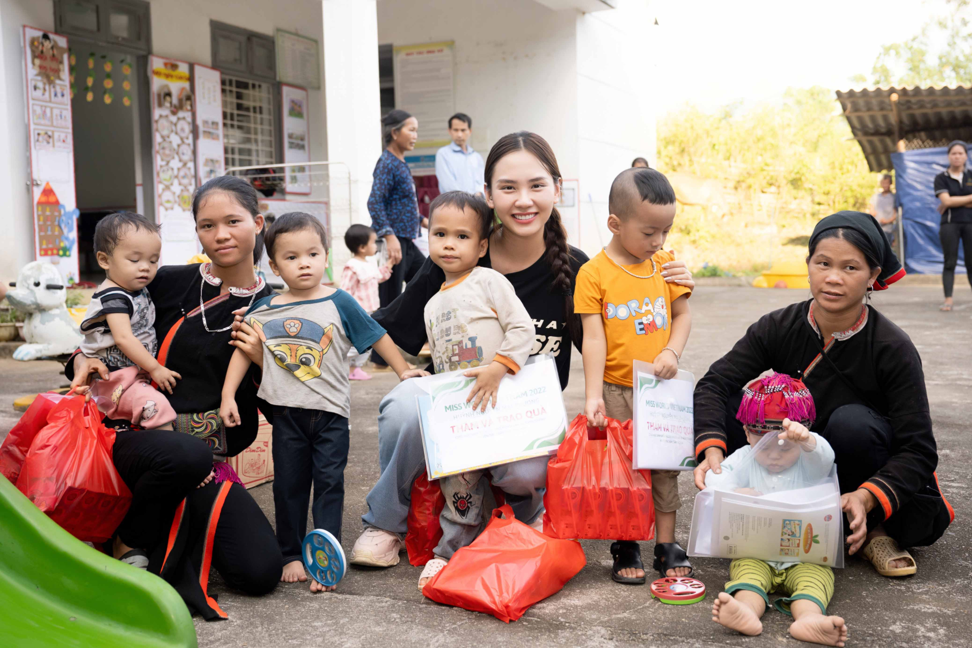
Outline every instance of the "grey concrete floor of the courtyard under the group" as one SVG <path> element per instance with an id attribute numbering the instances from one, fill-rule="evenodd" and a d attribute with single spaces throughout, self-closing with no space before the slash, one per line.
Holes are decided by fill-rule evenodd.
<path id="1" fill-rule="evenodd" d="M 972 506 L 963 487 L 972 477 L 972 440 L 963 434 L 972 407 L 972 298 L 958 288 L 953 313 L 939 313 L 937 288 L 898 287 L 875 296 L 875 305 L 904 328 L 924 360 L 928 396 L 938 439 L 941 486 L 955 507 L 955 524 L 933 547 L 913 553 L 919 573 L 905 579 L 885 579 L 868 564 L 849 559 L 838 570 L 832 614 L 844 616 L 850 628 L 848 645 L 969 646 L 967 620 L 972 608 L 968 588 L 972 577 Z M 702 287 L 692 297 L 694 327 L 682 368 L 700 377 L 712 360 L 725 353 L 759 316 L 796 300 L 803 290 L 755 290 Z M 0 360 L 0 398 L 59 384 L 56 363 L 23 365 Z M 571 385 L 564 392 L 569 415 L 580 411 L 583 379 L 574 355 Z M 388 374 L 353 386 L 351 452 L 346 471 L 344 543 L 349 551 L 364 512 L 364 495 L 378 476 L 378 401 L 395 384 Z M 17 416 L 0 412 L 0 434 Z M 688 537 L 695 489 L 691 474 L 680 479 L 684 508 L 677 535 Z M 271 522 L 271 487 L 252 491 Z M 728 561 L 695 559 L 696 576 L 710 588 L 709 599 L 695 605 L 663 605 L 646 587 L 610 581 L 608 541 L 584 541 L 587 566 L 559 594 L 530 608 L 517 622 L 505 625 L 493 617 L 434 603 L 416 589 L 420 567 L 405 555 L 390 569 L 350 567 L 335 594 L 312 596 L 306 584 L 281 585 L 267 597 L 245 597 L 226 590 L 218 575 L 210 592 L 218 593 L 229 619 L 205 623 L 195 619 L 199 645 L 223 646 L 478 646 L 510 648 L 532 645 L 565 646 L 701 646 L 797 645 L 787 632 L 787 620 L 768 611 L 764 631 L 744 637 L 713 624 L 711 599 L 728 578 Z M 651 543 L 642 551 L 651 555 Z M 962 621 L 965 619 L 966 621 Z"/>

